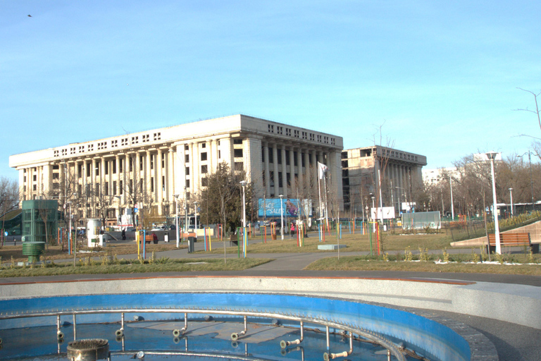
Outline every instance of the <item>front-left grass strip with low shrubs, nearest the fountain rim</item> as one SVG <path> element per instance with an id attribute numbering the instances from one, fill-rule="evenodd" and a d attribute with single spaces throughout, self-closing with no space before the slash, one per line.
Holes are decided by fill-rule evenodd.
<path id="1" fill-rule="evenodd" d="M 107 259 L 107 257 L 104 257 Z M 271 259 L 228 258 L 224 259 L 155 259 L 141 264 L 138 260 L 108 259 L 93 262 L 81 260 L 77 267 L 73 264 L 42 264 L 34 267 L 14 267 L 0 269 L 0 277 L 57 276 L 61 274 L 135 274 L 146 272 L 185 272 L 185 271 L 242 271 L 259 266 Z"/>

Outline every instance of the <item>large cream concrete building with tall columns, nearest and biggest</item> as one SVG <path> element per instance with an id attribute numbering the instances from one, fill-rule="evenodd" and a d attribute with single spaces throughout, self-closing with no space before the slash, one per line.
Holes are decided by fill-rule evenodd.
<path id="1" fill-rule="evenodd" d="M 85 195 L 81 218 L 91 218 L 99 216 L 98 195 L 130 208 L 130 192 L 139 190 L 139 207 L 152 204 L 170 215 L 173 195 L 199 192 L 222 161 L 244 170 L 258 197 L 295 197 L 292 183 L 317 187 L 320 161 L 342 200 L 341 151 L 342 137 L 238 114 L 15 154 L 9 164 L 19 171 L 23 200 L 58 197 L 63 204 L 75 192 Z"/>

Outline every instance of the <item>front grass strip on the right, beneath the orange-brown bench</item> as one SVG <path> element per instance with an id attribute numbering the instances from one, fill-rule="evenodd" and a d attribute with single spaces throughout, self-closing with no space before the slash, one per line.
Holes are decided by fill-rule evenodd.
<path id="1" fill-rule="evenodd" d="M 541 276 L 541 264 L 483 264 L 463 263 L 471 261 L 469 255 L 453 255 L 448 264 L 435 264 L 429 261 L 404 261 L 390 257 L 389 261 L 383 259 L 370 259 L 370 257 L 344 256 L 327 257 L 309 264 L 305 269 L 313 271 L 416 271 L 416 272 L 457 272 L 457 273 L 483 273 L 483 274 L 527 274 Z M 537 255 L 538 256 L 538 255 Z M 524 255 L 504 255 L 504 258 L 513 258 L 515 262 L 523 262 Z M 393 259 L 394 258 L 394 259 Z M 437 257 L 436 257 L 437 258 Z M 522 261 L 521 261 L 522 259 Z M 511 259 L 509 259 L 511 260 Z M 458 261 L 458 262 L 456 262 Z M 534 262 L 541 262 L 535 257 Z"/>

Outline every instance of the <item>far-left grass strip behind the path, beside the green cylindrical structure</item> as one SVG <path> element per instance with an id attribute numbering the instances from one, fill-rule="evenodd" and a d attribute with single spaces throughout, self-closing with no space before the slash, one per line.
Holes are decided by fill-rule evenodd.
<path id="1" fill-rule="evenodd" d="M 187 248 L 187 244 L 181 244 L 180 248 Z M 154 243 L 147 244 L 147 254 L 151 254 L 152 251 L 160 252 L 166 250 L 175 250 L 176 244 L 173 243 Z M 92 253 L 79 253 L 77 250 L 77 258 L 79 257 L 100 257 L 109 253 L 110 255 L 132 255 L 137 254 L 137 245 L 135 241 L 131 243 L 107 243 L 106 247 L 97 248 L 93 250 L 92 248 L 82 248 L 85 251 L 94 251 Z M 11 262 L 11 257 L 13 257 L 14 262 L 24 262 L 28 260 L 28 256 L 23 256 L 23 246 L 20 245 L 4 245 L 0 248 L 0 257 L 1 262 Z M 44 251 L 42 259 L 73 259 L 73 255 L 68 255 L 68 252 L 62 252 L 61 246 L 59 245 L 49 245 L 49 249 Z"/>

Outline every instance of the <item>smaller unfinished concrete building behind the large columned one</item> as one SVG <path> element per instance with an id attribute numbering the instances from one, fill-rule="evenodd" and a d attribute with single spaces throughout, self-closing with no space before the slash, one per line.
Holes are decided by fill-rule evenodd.
<path id="1" fill-rule="evenodd" d="M 425 165 L 426 157 L 422 155 L 380 145 L 345 149 L 342 152 L 344 209 L 361 216 L 367 203 L 372 207 L 371 195 L 379 199 L 376 192 L 379 194 L 381 176 L 383 207 L 394 206 L 398 214 L 400 203 L 411 202 L 416 187 L 422 184 L 421 169 Z"/>

